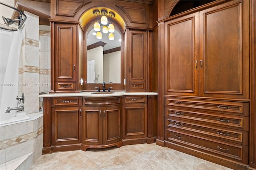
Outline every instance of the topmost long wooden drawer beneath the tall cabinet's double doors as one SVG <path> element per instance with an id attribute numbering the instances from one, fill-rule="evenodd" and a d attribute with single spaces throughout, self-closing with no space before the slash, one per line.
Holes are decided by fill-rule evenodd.
<path id="1" fill-rule="evenodd" d="M 249 116 L 249 103 L 230 101 L 209 101 L 200 99 L 185 99 L 165 97 L 165 106 L 183 107 L 190 110 L 204 110 L 230 115 Z"/>

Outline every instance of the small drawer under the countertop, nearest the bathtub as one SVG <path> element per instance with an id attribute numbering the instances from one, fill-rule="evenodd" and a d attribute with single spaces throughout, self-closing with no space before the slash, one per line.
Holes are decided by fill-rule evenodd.
<path id="1" fill-rule="evenodd" d="M 82 106 L 82 97 L 52 97 L 52 107 Z"/>

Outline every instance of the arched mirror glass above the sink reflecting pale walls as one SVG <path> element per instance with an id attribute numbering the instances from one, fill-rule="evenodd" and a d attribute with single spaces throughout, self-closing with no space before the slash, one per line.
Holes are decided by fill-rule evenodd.
<path id="1" fill-rule="evenodd" d="M 101 26 L 101 30 L 102 30 Z M 121 83 L 121 35 L 115 27 L 114 40 L 102 32 L 96 38 L 93 25 L 87 30 L 87 83 Z"/>

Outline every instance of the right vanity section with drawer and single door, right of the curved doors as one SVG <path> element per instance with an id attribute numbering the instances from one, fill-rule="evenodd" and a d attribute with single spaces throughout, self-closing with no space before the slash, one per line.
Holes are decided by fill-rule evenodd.
<path id="1" fill-rule="evenodd" d="M 147 96 L 124 96 L 123 143 L 147 142 Z"/>

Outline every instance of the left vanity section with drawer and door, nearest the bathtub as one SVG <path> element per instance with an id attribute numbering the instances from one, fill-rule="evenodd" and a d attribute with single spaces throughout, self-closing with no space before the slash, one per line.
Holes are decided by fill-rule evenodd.
<path id="1" fill-rule="evenodd" d="M 82 97 L 53 97 L 52 151 L 79 150 L 82 142 Z"/>

